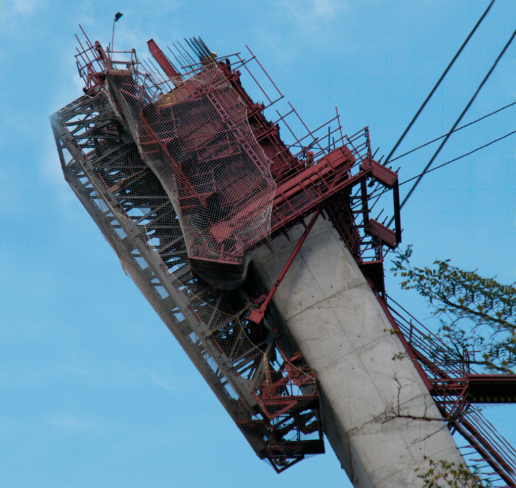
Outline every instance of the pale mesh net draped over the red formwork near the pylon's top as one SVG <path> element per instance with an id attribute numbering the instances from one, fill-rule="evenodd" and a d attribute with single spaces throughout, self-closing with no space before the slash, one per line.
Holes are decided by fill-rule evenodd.
<path id="1" fill-rule="evenodd" d="M 246 106 L 215 62 L 165 93 L 136 70 L 107 77 L 174 205 L 192 271 L 214 287 L 237 287 L 253 251 L 270 239 L 276 190 Z"/>

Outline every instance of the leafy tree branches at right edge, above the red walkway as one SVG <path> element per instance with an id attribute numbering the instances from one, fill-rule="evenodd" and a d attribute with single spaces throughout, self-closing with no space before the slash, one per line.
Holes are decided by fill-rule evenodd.
<path id="1" fill-rule="evenodd" d="M 394 276 L 402 277 L 404 290 L 416 290 L 430 303 L 439 319 L 438 335 L 446 344 L 440 352 L 453 354 L 493 372 L 516 370 L 516 283 L 502 285 L 463 271 L 450 260 L 433 267 L 416 268 L 409 259 L 412 248 L 398 251 L 392 261 Z"/>

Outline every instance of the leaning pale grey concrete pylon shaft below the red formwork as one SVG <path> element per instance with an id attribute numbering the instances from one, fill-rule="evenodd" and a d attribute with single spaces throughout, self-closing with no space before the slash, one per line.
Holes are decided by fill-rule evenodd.
<path id="1" fill-rule="evenodd" d="M 304 231 L 253 260 L 268 289 Z M 422 487 L 428 461 L 466 463 L 415 365 L 331 223 L 315 222 L 274 296 L 315 369 L 324 433 L 354 486 Z M 396 357 L 402 359 L 396 359 Z"/>

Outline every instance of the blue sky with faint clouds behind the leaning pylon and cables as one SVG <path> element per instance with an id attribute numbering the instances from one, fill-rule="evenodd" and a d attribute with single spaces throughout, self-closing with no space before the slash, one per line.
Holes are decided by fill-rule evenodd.
<path id="1" fill-rule="evenodd" d="M 48 116 L 81 94 L 80 23 L 116 49 L 201 35 L 248 44 L 311 127 L 339 107 L 387 154 L 487 1 L 0 0 L 0 486 L 350 486 L 328 453 L 276 475 L 255 457 L 68 189 Z M 516 28 L 498 0 L 402 146 L 451 127 Z M 515 101 L 516 44 L 464 119 Z M 514 110 L 454 136 L 436 164 L 513 131 Z M 516 137 L 428 175 L 402 211 L 415 264 L 516 279 Z M 400 159 L 400 179 L 430 157 Z M 406 188 L 404 185 L 402 188 Z M 404 194 L 402 190 L 402 195 Z M 424 318 L 416 297 L 388 291 Z M 485 415 L 516 444 L 513 407 Z M 512 429 L 512 430 L 511 430 Z"/>

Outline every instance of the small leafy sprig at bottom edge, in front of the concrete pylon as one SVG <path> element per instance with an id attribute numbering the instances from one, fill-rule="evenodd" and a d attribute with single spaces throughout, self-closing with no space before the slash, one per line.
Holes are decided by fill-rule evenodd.
<path id="1" fill-rule="evenodd" d="M 471 472 L 466 465 L 449 463 L 448 461 L 428 460 L 430 467 L 424 474 L 418 474 L 423 480 L 423 488 L 486 488 L 489 481 L 480 480 L 475 471 Z"/>

